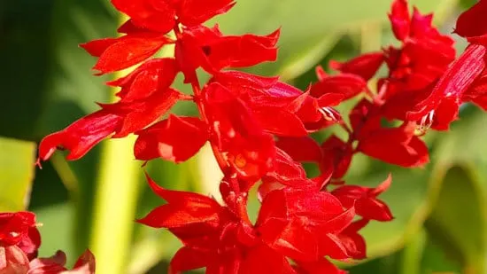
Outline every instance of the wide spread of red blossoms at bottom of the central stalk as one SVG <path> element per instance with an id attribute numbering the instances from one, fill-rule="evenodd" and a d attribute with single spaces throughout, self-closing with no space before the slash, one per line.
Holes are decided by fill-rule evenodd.
<path id="1" fill-rule="evenodd" d="M 329 273 L 341 273 L 321 256 L 344 257 L 346 248 L 336 235 L 352 223 L 354 211 L 344 211 L 327 192 L 270 192 L 252 225 L 211 198 L 168 191 L 148 180 L 168 203 L 138 222 L 168 228 L 182 240 L 184 247 L 174 255 L 171 273 L 201 267 L 207 273 L 319 273 L 293 269 L 286 257 L 298 265 L 314 262 L 326 265 Z"/>

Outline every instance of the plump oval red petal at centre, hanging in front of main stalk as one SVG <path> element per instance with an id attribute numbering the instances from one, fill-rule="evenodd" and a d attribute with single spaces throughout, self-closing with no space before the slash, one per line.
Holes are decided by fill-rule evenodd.
<path id="1" fill-rule="evenodd" d="M 272 168 L 273 137 L 262 130 L 242 100 L 219 83 L 205 86 L 203 95 L 213 131 L 211 140 L 239 176 L 257 181 Z"/>

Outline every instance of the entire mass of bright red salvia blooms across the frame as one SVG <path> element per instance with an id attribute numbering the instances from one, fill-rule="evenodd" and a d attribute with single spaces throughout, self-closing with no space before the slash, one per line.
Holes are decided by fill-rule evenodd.
<path id="1" fill-rule="evenodd" d="M 318 81 L 305 91 L 278 77 L 231 70 L 275 60 L 280 33 L 224 35 L 218 26 L 204 25 L 228 12 L 236 4 L 233 0 L 112 4 L 129 17 L 118 29 L 122 35 L 81 46 L 98 58 L 94 69 L 99 74 L 140 66 L 107 83 L 120 87 L 118 102 L 98 104 L 97 112 L 45 137 L 39 158 L 48 160 L 57 149 L 66 149 L 67 159 L 76 160 L 107 137 L 133 133 L 137 160 L 178 163 L 209 143 L 224 175 L 222 203 L 161 188 L 147 177 L 166 204 L 138 222 L 166 228 L 183 244 L 170 273 L 199 268 L 206 273 L 346 273 L 329 259 L 366 258 L 359 231 L 371 221 L 393 219 L 377 198 L 388 189 L 390 177 L 375 188 L 345 184 L 353 155 L 423 166 L 429 161 L 421 140 L 427 129 L 448 129 L 464 102 L 487 109 L 487 0 L 457 21 L 455 33 L 469 43 L 459 58 L 452 38 L 431 25 L 431 14 L 421 15 L 415 8 L 411 14 L 406 0 L 395 0 L 389 18 L 400 45 L 332 62 L 336 74 L 317 67 Z M 173 58 L 151 58 L 167 45 L 174 46 Z M 384 64 L 388 74 L 379 78 L 376 89 L 369 89 L 367 82 Z M 211 74 L 203 85 L 197 69 Z M 179 73 L 191 86 L 191 95 L 171 87 Z M 360 99 L 344 119 L 333 107 L 352 98 Z M 194 102 L 199 115 L 168 114 L 180 100 Z M 309 136 L 332 126 L 344 129 L 348 137 L 332 135 L 318 144 Z M 315 163 L 320 174 L 308 177 L 303 162 Z M 261 206 L 252 223 L 247 201 L 253 186 Z M 35 222 L 19 231 L 21 239 L 33 243 L 28 248 L 23 241 L 9 240 L 6 233 L 14 224 L 1 222 L 0 247 L 28 257 L 38 246 L 38 234 L 33 239 L 27 233 L 35 230 Z M 48 261 L 30 265 L 40 262 Z"/>

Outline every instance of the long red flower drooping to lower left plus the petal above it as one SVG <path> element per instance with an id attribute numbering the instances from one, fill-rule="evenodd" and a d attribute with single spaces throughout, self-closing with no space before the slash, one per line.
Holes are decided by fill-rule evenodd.
<path id="1" fill-rule="evenodd" d="M 43 138 L 39 158 L 47 160 L 56 149 L 66 149 L 68 160 L 76 160 L 106 137 L 126 137 L 144 129 L 182 98 L 169 88 L 177 68 L 174 59 L 153 59 L 110 85 L 120 86 L 115 104 L 99 104 L 102 109 L 82 117 L 66 129 Z"/>

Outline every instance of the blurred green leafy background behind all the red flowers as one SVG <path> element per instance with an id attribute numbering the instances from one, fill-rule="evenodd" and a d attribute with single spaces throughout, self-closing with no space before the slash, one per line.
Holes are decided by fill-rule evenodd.
<path id="1" fill-rule="evenodd" d="M 444 33 L 474 2 L 412 1 L 422 12 L 436 12 Z M 217 20 L 227 34 L 282 27 L 279 61 L 252 71 L 281 74 L 305 89 L 315 81 L 316 65 L 394 43 L 389 7 L 390 0 L 237 0 Z M 34 167 L 43 136 L 94 111 L 95 101 L 111 99 L 103 84 L 110 76 L 93 76 L 95 59 L 77 44 L 115 35 L 120 21 L 108 0 L 0 1 L 0 210 L 28 208 L 38 215 L 42 256 L 63 249 L 72 264 L 89 247 L 98 273 L 166 273 L 178 241 L 133 222 L 162 202 L 144 183 L 142 163 L 131 154 L 133 138 L 105 141 L 74 162 L 56 153 L 43 169 Z M 175 111 L 194 114 L 185 105 Z M 429 132 L 426 168 L 397 168 L 360 155 L 353 160 L 349 184 L 375 186 L 392 173 L 383 200 L 396 218 L 363 231 L 369 259 L 342 263 L 352 274 L 487 271 L 487 114 L 464 106 L 460 117 L 450 132 Z M 154 160 L 146 169 L 158 184 L 202 193 L 215 193 L 220 176 L 205 149 L 186 163 Z M 256 207 L 253 202 L 251 210 Z"/>

